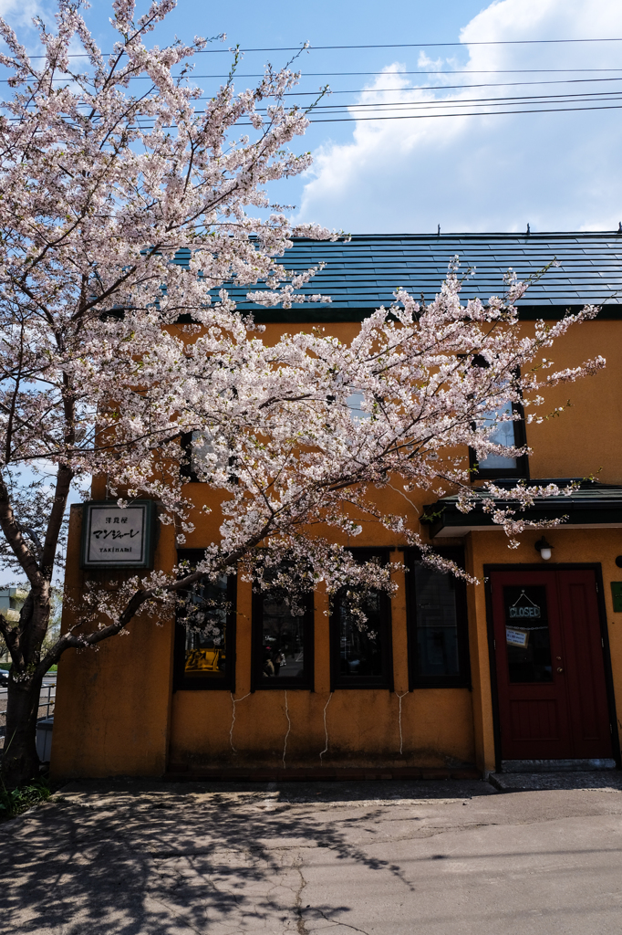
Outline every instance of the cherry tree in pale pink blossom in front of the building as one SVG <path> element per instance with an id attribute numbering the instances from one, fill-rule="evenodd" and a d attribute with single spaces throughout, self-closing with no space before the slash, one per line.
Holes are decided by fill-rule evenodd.
<path id="1" fill-rule="evenodd" d="M 233 66 L 199 104 L 189 63 L 205 40 L 146 44 L 173 0 L 137 19 L 132 0 L 115 0 L 109 55 L 87 30 L 85 6 L 59 0 L 55 31 L 37 23 L 41 60 L 0 21 L 12 88 L 0 116 L 1 553 L 30 587 L 19 622 L 0 617 L 12 659 L 11 784 L 38 769 L 40 685 L 65 651 L 97 647 L 138 613 L 166 619 L 193 584 L 236 571 L 260 588 L 287 584 L 294 600 L 319 582 L 330 593 L 347 586 L 356 604 L 365 588 L 390 587 L 387 568 L 361 568 L 335 545 L 362 522 L 447 567 L 422 535 L 412 492 L 459 490 L 460 508 L 471 509 L 468 446 L 479 457 L 522 453 L 492 437 L 516 418 L 504 404 L 522 401 L 535 418 L 545 387 L 604 363 L 558 373 L 534 364 L 596 309 L 527 336 L 516 312 L 524 284 L 510 279 L 502 297 L 461 303 L 457 267 L 431 304 L 400 291 L 349 343 L 321 330 L 264 341 L 223 287 L 233 281 L 256 302 L 288 308 L 314 273 L 288 272 L 291 237 L 337 236 L 292 227 L 265 194 L 309 165 L 287 149 L 307 125 L 285 104 L 298 76 L 267 67 L 254 91 L 236 94 Z M 70 56 L 78 43 L 83 58 Z M 247 135 L 236 135 L 240 124 Z M 321 298 L 330 297 L 312 296 Z M 223 517 L 204 559 L 144 578 L 116 573 L 50 645 L 72 486 L 105 476 L 121 505 L 157 499 L 182 545 L 195 509 L 190 460 Z M 387 487 L 403 496 L 399 515 L 382 510 Z M 513 539 L 529 525 L 521 509 L 557 490 L 503 491 L 516 510 L 498 509 L 495 492 L 488 484 L 488 509 Z"/>

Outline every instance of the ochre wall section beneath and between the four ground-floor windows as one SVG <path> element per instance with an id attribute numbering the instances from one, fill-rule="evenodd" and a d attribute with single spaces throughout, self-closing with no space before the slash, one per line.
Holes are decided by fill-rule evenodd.
<path id="1" fill-rule="evenodd" d="M 397 556 L 396 556 L 397 557 Z M 403 579 L 403 574 L 400 575 Z M 402 581 L 403 584 L 403 581 Z M 349 689 L 330 693 L 326 599 L 316 596 L 314 692 L 250 692 L 250 585 L 238 585 L 236 668 L 228 692 L 178 691 L 173 696 L 173 766 L 456 767 L 474 762 L 473 712 L 468 689 L 408 693 L 403 586 L 392 601 L 394 692 Z M 405 693 L 405 694 L 404 694 Z M 400 699 L 402 740 L 400 754 Z M 326 711 L 326 733 L 324 730 Z M 290 725 L 288 724 L 288 713 Z M 233 731 L 232 731 L 233 725 Z M 320 758 L 327 745 L 328 751 Z"/>

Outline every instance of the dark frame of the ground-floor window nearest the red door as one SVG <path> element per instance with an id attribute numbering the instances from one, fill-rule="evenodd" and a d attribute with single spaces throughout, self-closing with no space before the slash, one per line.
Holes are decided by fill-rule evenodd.
<path id="1" fill-rule="evenodd" d="M 464 549 L 461 546 L 445 546 L 434 550 L 444 558 L 453 560 L 464 568 Z M 406 566 L 406 626 L 408 633 L 408 688 L 471 688 L 471 658 L 469 650 L 469 615 L 467 610 L 466 582 L 453 578 L 456 589 L 456 620 L 458 632 L 459 673 L 457 675 L 420 675 L 417 672 L 417 586 L 415 562 L 420 559 L 418 549 L 404 550 Z"/>

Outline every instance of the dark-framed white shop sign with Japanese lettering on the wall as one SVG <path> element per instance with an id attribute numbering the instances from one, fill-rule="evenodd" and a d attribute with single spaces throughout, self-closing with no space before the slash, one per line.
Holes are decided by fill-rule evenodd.
<path id="1" fill-rule="evenodd" d="M 125 508 L 113 500 L 85 503 L 80 568 L 152 568 L 154 519 L 153 500 Z"/>

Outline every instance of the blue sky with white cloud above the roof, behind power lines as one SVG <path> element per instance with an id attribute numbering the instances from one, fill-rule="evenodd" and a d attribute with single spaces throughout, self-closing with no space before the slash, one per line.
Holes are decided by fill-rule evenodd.
<path id="1" fill-rule="evenodd" d="M 146 8 L 146 4 L 139 9 Z M 0 0 L 0 10 L 21 31 L 27 18 L 50 6 L 37 0 Z M 110 38 L 107 0 L 87 14 L 103 46 Z M 622 77 L 622 70 L 544 74 L 538 69 L 622 69 L 622 43 L 474 46 L 487 39 L 622 36 L 620 0 L 316 0 L 303 5 L 274 0 L 228 4 L 179 0 L 155 40 L 227 34 L 200 57 L 197 75 L 224 75 L 226 47 L 243 48 L 412 43 L 413 48 L 311 50 L 300 59 L 300 90 L 315 92 L 329 82 L 331 105 L 343 101 L 442 101 L 448 95 L 540 93 L 544 86 L 508 88 L 519 79 Z M 434 48 L 432 42 L 460 42 Z M 266 60 L 286 61 L 287 52 L 247 52 L 237 86 L 250 85 Z M 530 69 L 530 75 L 482 77 Z M 417 75 L 444 70 L 445 76 Z M 458 74 L 465 72 L 466 74 Z M 380 72 L 344 75 L 328 73 Z M 408 74 L 415 72 L 416 74 Z M 477 74 L 475 74 L 477 73 Z M 219 82 L 201 79 L 205 90 Z M 482 82 L 496 87 L 469 90 Z M 422 84 L 431 90 L 411 90 Z M 449 90 L 448 84 L 458 85 Z M 615 90 L 622 81 L 548 85 L 549 93 Z M 343 94 L 349 92 L 349 94 Z M 308 98 L 306 98 L 308 99 Z M 475 106 L 474 106 L 475 107 Z M 468 108 L 470 109 L 470 108 Z M 296 216 L 350 232 L 516 231 L 614 229 L 622 219 L 621 111 L 459 116 L 384 122 L 320 122 L 296 143 L 314 153 L 304 178 L 279 183 L 275 200 L 296 204 Z"/>

